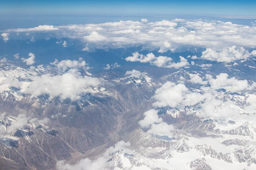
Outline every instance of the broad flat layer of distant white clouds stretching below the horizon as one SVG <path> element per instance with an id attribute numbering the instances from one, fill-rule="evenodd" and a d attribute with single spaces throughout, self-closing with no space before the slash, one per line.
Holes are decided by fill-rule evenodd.
<path id="1" fill-rule="evenodd" d="M 97 49 L 141 46 L 145 50 L 179 52 L 199 47 L 210 48 L 212 51 L 219 52 L 220 49 L 227 49 L 233 45 L 239 48 L 256 48 L 256 42 L 254 41 L 256 35 L 255 26 L 244 26 L 220 21 L 186 21 L 183 19 L 172 21 L 162 20 L 149 23 L 120 21 L 113 23 L 39 26 L 35 28 L 5 30 L 6 33 L 19 31 L 44 31 L 44 33 L 49 34 L 44 35 L 44 37 L 81 40 L 89 44 L 91 48 Z M 212 53 L 212 51 L 207 50 L 205 55 Z M 212 55 L 214 54 L 209 54 L 205 59 L 216 60 L 216 57 L 212 57 Z M 220 61 L 224 60 L 226 62 L 226 59 L 221 58 L 217 57 Z"/>

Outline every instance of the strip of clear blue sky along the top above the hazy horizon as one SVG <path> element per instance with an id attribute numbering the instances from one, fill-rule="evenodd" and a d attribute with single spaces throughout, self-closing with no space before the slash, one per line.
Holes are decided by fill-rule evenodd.
<path id="1" fill-rule="evenodd" d="M 0 14 L 243 15 L 256 16 L 254 0 L 0 0 Z"/>

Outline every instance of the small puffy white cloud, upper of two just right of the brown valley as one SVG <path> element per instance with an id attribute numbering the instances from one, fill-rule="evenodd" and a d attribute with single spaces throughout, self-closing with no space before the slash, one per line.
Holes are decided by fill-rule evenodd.
<path id="1" fill-rule="evenodd" d="M 146 111 L 143 115 L 145 116 L 144 119 L 139 122 L 139 125 L 143 128 L 150 128 L 154 123 L 163 121 L 162 118 L 158 118 L 157 111 L 154 109 Z"/>

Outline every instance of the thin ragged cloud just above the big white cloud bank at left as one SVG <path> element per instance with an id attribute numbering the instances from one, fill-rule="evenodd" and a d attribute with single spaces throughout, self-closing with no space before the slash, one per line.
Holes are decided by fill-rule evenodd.
<path id="1" fill-rule="evenodd" d="M 88 64 L 84 61 L 83 58 L 79 58 L 79 61 L 77 60 L 70 60 L 70 59 L 66 59 L 66 60 L 61 60 L 60 62 L 58 62 L 58 59 L 55 59 L 54 62 L 50 62 L 50 65 L 55 65 L 58 68 L 59 72 L 66 72 L 67 70 L 73 68 L 76 70 L 82 69 L 82 70 L 89 70 L 90 67 L 88 66 Z"/>

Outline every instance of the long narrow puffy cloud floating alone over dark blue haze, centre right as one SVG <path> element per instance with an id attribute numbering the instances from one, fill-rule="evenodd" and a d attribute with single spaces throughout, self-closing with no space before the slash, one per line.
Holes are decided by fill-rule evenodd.
<path id="1" fill-rule="evenodd" d="M 126 61 L 130 62 L 149 62 L 151 65 L 156 65 L 157 67 L 166 67 L 166 68 L 181 68 L 189 65 L 189 62 L 184 57 L 180 56 L 180 62 L 171 62 L 172 58 L 166 56 L 156 57 L 153 53 L 149 53 L 146 56 L 139 54 L 138 52 L 133 53 L 133 56 L 125 58 Z"/>

